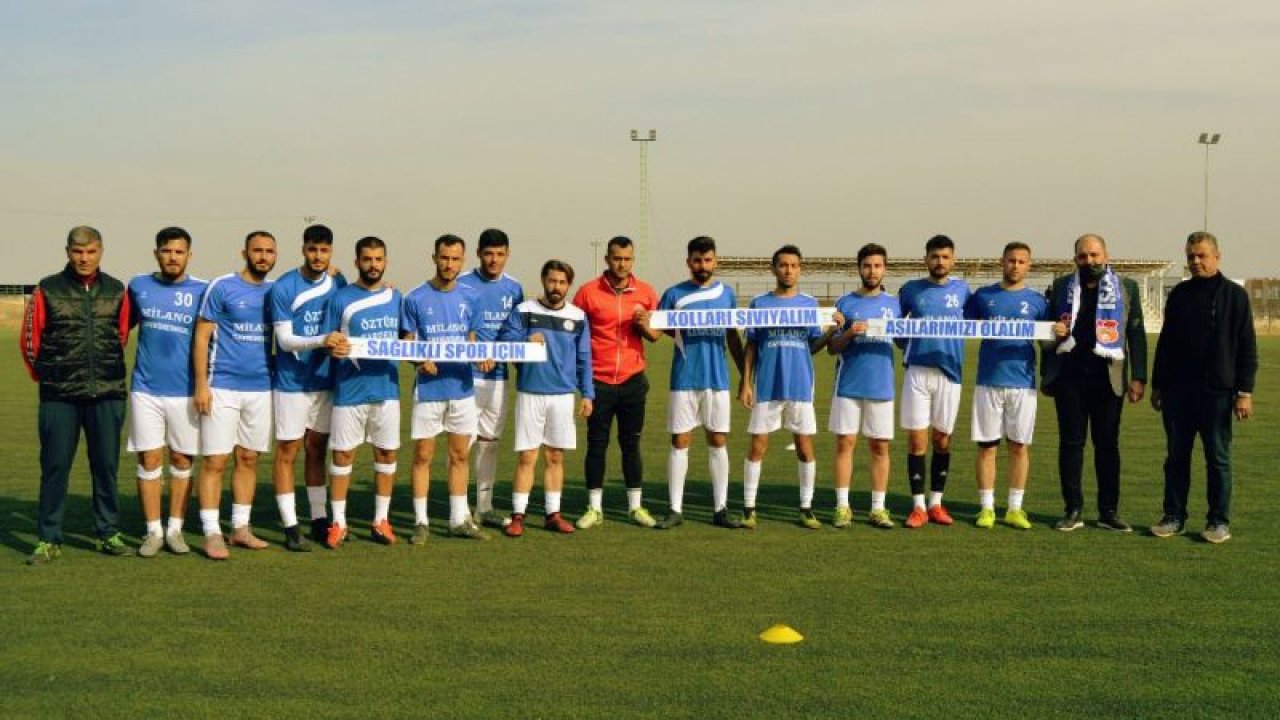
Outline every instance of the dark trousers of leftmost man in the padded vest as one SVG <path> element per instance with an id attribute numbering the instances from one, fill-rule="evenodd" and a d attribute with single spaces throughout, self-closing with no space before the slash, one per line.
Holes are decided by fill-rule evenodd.
<path id="1" fill-rule="evenodd" d="M 40 430 L 40 539 L 63 542 L 63 514 L 72 461 L 81 429 L 88 446 L 88 469 L 93 478 L 93 532 L 109 538 L 116 532 L 120 506 L 116 471 L 120 464 L 123 400 L 41 400 Z"/>

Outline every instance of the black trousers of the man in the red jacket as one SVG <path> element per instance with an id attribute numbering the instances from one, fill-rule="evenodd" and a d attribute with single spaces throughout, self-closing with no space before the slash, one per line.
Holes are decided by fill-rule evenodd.
<path id="1" fill-rule="evenodd" d="M 586 419 L 586 487 L 604 487 L 604 461 L 609 452 L 609 427 L 618 420 L 618 447 L 622 448 L 622 480 L 627 488 L 644 482 L 640 459 L 640 433 L 644 432 L 649 378 L 639 373 L 620 384 L 595 382 L 595 401 Z"/>

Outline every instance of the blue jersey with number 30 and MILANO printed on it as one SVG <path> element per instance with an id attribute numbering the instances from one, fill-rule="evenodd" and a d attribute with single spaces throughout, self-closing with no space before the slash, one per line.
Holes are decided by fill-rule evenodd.
<path id="1" fill-rule="evenodd" d="M 196 380 L 191 373 L 191 337 L 196 309 L 205 296 L 206 281 L 187 275 L 166 282 L 159 274 L 129 281 L 129 307 L 138 325 L 133 360 L 133 391 L 159 397 L 191 397 Z"/>

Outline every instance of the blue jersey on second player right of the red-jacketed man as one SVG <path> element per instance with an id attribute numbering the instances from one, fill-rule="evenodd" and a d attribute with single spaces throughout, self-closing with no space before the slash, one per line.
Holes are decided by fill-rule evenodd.
<path id="1" fill-rule="evenodd" d="M 818 300 L 799 292 L 780 297 L 756 295 L 749 307 L 817 307 Z M 755 400 L 813 402 L 813 354 L 810 341 L 822 337 L 817 325 L 799 328 L 749 328 L 746 340 L 755 343 Z"/>

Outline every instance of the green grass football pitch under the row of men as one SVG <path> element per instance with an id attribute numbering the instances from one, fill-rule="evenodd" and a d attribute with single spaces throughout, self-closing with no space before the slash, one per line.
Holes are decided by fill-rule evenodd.
<path id="1" fill-rule="evenodd" d="M 13 342 L 12 332 L 0 333 L 0 345 Z M 603 530 L 532 529 L 522 541 L 490 543 L 438 534 L 426 548 L 384 548 L 365 539 L 372 501 L 362 455 L 365 483 L 351 510 L 358 539 L 339 552 L 273 547 L 223 564 L 195 555 L 142 561 L 90 551 L 82 457 L 67 523 L 74 539 L 60 561 L 35 569 L 23 559 L 35 541 L 36 393 L 10 356 L 0 366 L 0 451 L 10 468 L 0 479 L 0 715 L 1274 717 L 1280 342 L 1262 347 L 1258 415 L 1236 428 L 1236 537 L 1219 547 L 1192 536 L 1051 530 L 1061 500 L 1046 400 L 1027 497 L 1032 532 L 972 528 L 968 442 L 957 442 L 952 462 L 956 527 L 869 528 L 859 448 L 856 525 L 803 530 L 794 524 L 794 457 L 778 434 L 765 460 L 765 521 L 754 533 L 707 524 L 705 450 L 695 443 L 686 492 L 694 521 L 678 530 L 626 524 L 613 455 Z M 653 352 L 655 388 L 664 387 L 668 352 L 667 345 Z M 818 365 L 826 427 L 831 361 L 820 356 Z M 972 370 L 970 363 L 970 379 Z M 648 502 L 658 514 L 664 404 L 655 389 L 644 443 Z M 959 438 L 968 438 L 968 413 L 966 396 Z M 745 413 L 735 425 L 745 427 Z M 735 434 L 730 450 L 735 505 L 745 439 Z M 1164 455 L 1149 406 L 1126 407 L 1121 443 L 1121 512 L 1144 527 L 1160 515 Z M 824 521 L 831 447 L 819 434 Z M 909 506 L 902 447 L 899 438 L 890 498 L 897 519 Z M 412 518 L 407 465 L 393 505 L 402 530 Z M 124 527 L 137 533 L 133 460 L 120 468 Z M 255 519 L 278 541 L 268 468 L 264 460 Z M 507 454 L 502 477 L 509 473 Z M 435 477 L 443 479 L 439 462 Z M 570 456 L 567 484 L 566 509 L 576 516 L 585 502 L 581 451 Z M 1193 487 L 1198 520 L 1202 469 Z M 436 533 L 443 491 L 435 482 Z M 508 493 L 503 483 L 503 507 Z M 1001 478 L 1001 506 L 1004 495 Z M 197 525 L 191 512 L 188 527 Z M 758 641 L 774 623 L 795 626 L 805 642 Z"/>

